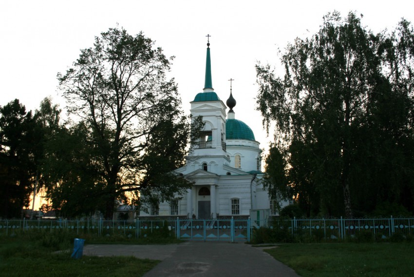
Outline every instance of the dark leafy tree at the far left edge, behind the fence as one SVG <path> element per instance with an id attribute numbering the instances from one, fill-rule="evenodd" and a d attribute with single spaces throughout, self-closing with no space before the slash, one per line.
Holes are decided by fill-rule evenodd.
<path id="1" fill-rule="evenodd" d="M 35 166 L 35 120 L 18 99 L 0 107 L 0 217 L 28 207 Z"/>

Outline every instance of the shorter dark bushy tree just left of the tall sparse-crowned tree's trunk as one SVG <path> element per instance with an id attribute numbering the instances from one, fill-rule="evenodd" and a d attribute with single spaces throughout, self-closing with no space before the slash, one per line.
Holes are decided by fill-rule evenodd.
<path id="1" fill-rule="evenodd" d="M 100 165 L 94 161 L 96 148 L 90 146 L 91 135 L 82 122 L 61 126 L 45 144 L 42 161 L 46 196 L 59 216 L 90 215 L 105 209 L 104 179 Z"/>

